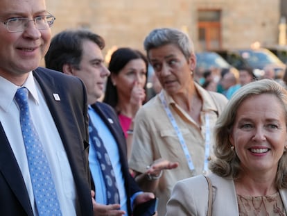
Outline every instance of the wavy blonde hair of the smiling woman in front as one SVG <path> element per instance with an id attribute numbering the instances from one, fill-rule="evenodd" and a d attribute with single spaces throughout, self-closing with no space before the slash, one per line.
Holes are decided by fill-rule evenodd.
<path id="1" fill-rule="evenodd" d="M 218 117 L 214 129 L 216 139 L 214 155 L 216 158 L 210 161 L 209 169 L 218 176 L 236 178 L 241 171 L 240 160 L 235 151 L 231 149 L 229 135 L 232 133 L 238 107 L 246 99 L 258 94 L 272 94 L 277 97 L 285 110 L 287 124 L 287 90 L 283 86 L 276 81 L 263 79 L 241 87 L 227 103 L 225 110 Z M 254 108 L 256 108 L 256 104 L 254 104 Z M 287 153 L 284 153 L 279 160 L 275 184 L 279 189 L 287 188 Z"/>

